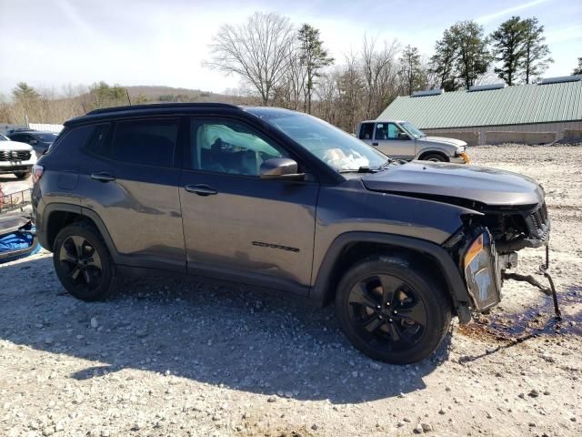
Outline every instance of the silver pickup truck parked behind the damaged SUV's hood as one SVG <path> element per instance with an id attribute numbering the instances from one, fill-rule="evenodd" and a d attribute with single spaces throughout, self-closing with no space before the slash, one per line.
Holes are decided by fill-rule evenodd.
<path id="1" fill-rule="evenodd" d="M 469 163 L 465 141 L 428 137 L 408 121 L 363 121 L 356 127 L 356 136 L 391 158 Z"/>

